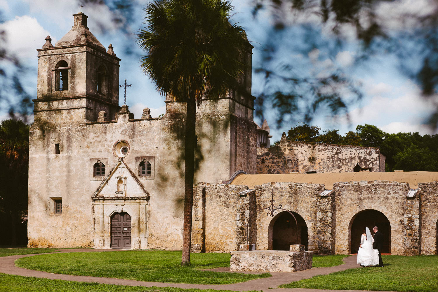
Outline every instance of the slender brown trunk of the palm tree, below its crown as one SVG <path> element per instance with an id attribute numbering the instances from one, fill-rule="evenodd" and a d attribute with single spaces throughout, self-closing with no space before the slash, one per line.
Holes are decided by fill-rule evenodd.
<path id="1" fill-rule="evenodd" d="M 183 257 L 181 264 L 190 264 L 191 224 L 193 210 L 193 175 L 194 175 L 194 146 L 196 124 L 196 101 L 187 101 L 186 139 L 184 143 L 184 226 L 183 226 Z"/>

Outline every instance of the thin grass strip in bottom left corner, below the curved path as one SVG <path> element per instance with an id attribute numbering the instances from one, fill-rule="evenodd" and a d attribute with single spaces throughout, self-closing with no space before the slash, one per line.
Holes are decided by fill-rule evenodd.
<path id="1" fill-rule="evenodd" d="M 219 290 L 140 287 L 49 280 L 0 274 L 1 292 L 218 292 Z M 220 290 L 220 292 L 231 292 Z"/>

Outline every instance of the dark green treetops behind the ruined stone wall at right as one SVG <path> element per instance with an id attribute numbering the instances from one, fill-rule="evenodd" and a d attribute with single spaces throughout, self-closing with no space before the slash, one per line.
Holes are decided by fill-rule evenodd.
<path id="1" fill-rule="evenodd" d="M 342 136 L 339 130 L 298 124 L 287 132 L 289 141 L 377 147 L 385 155 L 386 171 L 438 171 L 438 134 L 421 136 L 418 132 L 388 134 L 374 125 L 357 125 L 356 132 Z M 279 145 L 277 141 L 272 146 Z"/>

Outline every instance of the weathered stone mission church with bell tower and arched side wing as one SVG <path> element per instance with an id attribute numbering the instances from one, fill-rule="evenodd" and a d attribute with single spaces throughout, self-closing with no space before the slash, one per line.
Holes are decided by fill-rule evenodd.
<path id="1" fill-rule="evenodd" d="M 38 50 L 28 246 L 180 249 L 184 104 L 166 101 L 160 118 L 120 107 L 121 60 L 92 35 L 85 14 L 73 17 L 71 31 Z M 259 148 L 270 136 L 253 121 L 250 45 L 244 62 L 243 89 L 197 110 L 193 251 L 235 250 L 248 226 L 259 249 L 298 241 L 319 254 L 349 253 L 354 230 L 378 218 L 389 252 L 436 253 L 437 173 L 381 177 L 378 149 L 285 137 Z M 297 215 L 295 225 L 283 213 L 255 213 L 271 198 Z"/>

